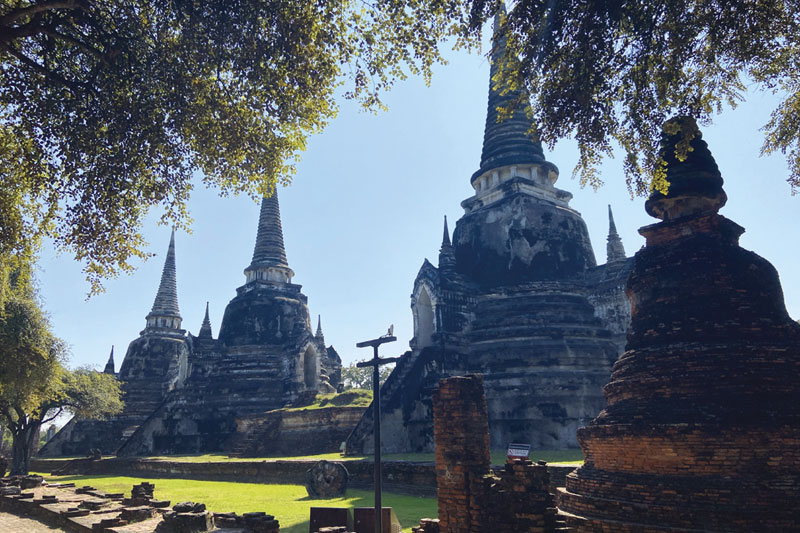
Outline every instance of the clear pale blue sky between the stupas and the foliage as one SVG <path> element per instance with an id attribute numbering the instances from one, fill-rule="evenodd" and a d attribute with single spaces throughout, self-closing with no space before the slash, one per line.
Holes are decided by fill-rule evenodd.
<path id="1" fill-rule="evenodd" d="M 284 239 L 294 282 L 303 285 L 316 325 L 322 325 L 345 363 L 370 354 L 355 343 L 381 335 L 395 324 L 398 342 L 382 353 L 408 349 L 412 323 L 409 295 L 424 258 L 434 264 L 442 217 L 450 229 L 461 217 L 460 202 L 471 196 L 469 178 L 480 161 L 486 116 L 489 65 L 478 54 L 448 54 L 426 87 L 421 79 L 400 83 L 386 98 L 389 111 L 372 115 L 352 102 L 324 133 L 313 137 L 298 173 L 280 189 Z M 797 235 L 800 197 L 786 184 L 781 155 L 759 157 L 777 99 L 763 93 L 720 115 L 703 128 L 725 178 L 728 205 L 722 214 L 746 228 L 741 244 L 769 260 L 783 283 L 789 314 L 800 318 Z M 575 195 L 571 205 L 589 226 L 598 263 L 605 262 L 607 204 L 628 255 L 643 244 L 639 227 L 655 222 L 644 199 L 631 199 L 621 156 L 602 166 L 605 186 L 581 189 L 571 179 L 575 143 L 546 151 L 561 177 L 556 186 Z M 176 235 L 178 298 L 184 328 L 197 333 L 206 301 L 216 336 L 222 314 L 253 253 L 258 205 L 247 197 L 220 198 L 197 181 L 190 202 L 192 234 Z M 72 347 L 71 366 L 102 368 L 112 345 L 117 369 L 144 327 L 153 304 L 169 228 L 153 215 L 144 235 L 156 255 L 130 275 L 109 280 L 106 292 L 86 300 L 81 266 L 66 254 L 43 251 L 39 281 L 57 335 Z"/>

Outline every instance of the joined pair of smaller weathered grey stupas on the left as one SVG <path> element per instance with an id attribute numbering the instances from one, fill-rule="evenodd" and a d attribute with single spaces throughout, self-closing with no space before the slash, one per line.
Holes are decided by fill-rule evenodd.
<path id="1" fill-rule="evenodd" d="M 173 232 L 145 329 L 120 367 L 123 412 L 106 421 L 70 421 L 40 454 L 221 450 L 237 417 L 281 408 L 307 391 L 334 391 L 341 359 L 325 346 L 321 325 L 312 330 L 308 300 L 292 283 L 277 193 L 261 203 L 253 259 L 244 274 L 218 338 L 208 307 L 197 336 L 187 334 L 178 308 Z M 113 359 L 110 364 L 113 372 Z"/>

